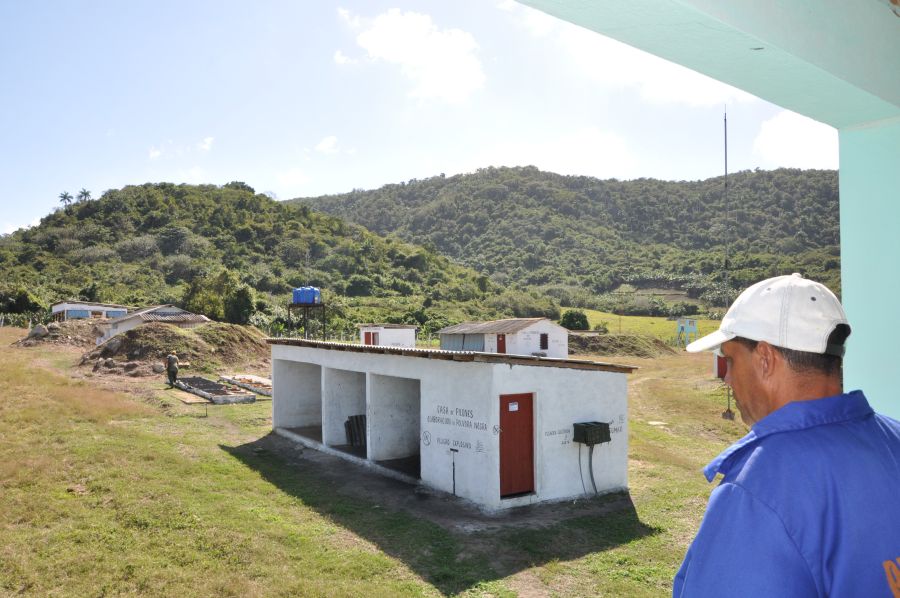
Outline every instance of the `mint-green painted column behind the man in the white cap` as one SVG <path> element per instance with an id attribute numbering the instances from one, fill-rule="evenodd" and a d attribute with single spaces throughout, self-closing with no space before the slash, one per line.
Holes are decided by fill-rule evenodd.
<path id="1" fill-rule="evenodd" d="M 840 131 L 844 386 L 900 419 L 900 119 Z"/>

